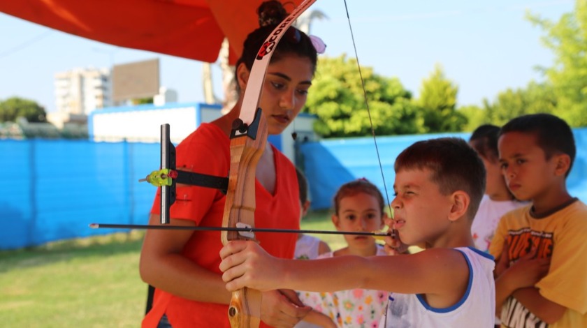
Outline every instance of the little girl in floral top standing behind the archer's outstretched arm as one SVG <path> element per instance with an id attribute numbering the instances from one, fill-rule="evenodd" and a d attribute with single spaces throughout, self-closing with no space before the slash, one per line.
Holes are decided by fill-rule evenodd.
<path id="1" fill-rule="evenodd" d="M 366 179 L 343 184 L 334 196 L 332 222 L 338 231 L 372 232 L 384 227 L 385 202 L 377 186 Z M 343 255 L 386 255 L 383 246 L 370 236 L 345 235 L 347 246 L 318 258 Z M 386 306 L 386 292 L 361 288 L 337 292 L 300 292 L 300 301 L 328 315 L 335 327 L 373 327 L 379 323 Z M 309 321 L 305 320 L 304 322 Z M 304 322 L 297 327 L 307 327 Z"/>

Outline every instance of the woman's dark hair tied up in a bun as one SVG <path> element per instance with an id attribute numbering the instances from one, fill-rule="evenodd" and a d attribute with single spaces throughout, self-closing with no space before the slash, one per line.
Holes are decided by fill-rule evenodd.
<path id="1" fill-rule="evenodd" d="M 242 48 L 242 54 L 236 62 L 235 68 L 238 68 L 241 63 L 244 63 L 251 70 L 263 42 L 273 29 L 277 27 L 277 24 L 280 24 L 288 15 L 282 3 L 275 0 L 261 3 L 261 6 L 257 9 L 257 13 L 259 14 L 259 28 L 247 36 L 244 47 Z M 280 42 L 277 43 L 277 47 L 273 50 L 271 62 L 279 61 L 284 54 L 296 54 L 299 57 L 310 59 L 313 69 L 316 70 L 318 60 L 316 48 L 312 45 L 310 37 L 295 27 L 289 27 Z"/>

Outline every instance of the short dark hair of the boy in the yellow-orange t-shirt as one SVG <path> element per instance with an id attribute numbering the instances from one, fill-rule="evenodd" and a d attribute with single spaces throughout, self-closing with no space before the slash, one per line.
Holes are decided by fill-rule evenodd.
<path id="1" fill-rule="evenodd" d="M 565 177 L 569 176 L 577 149 L 573 131 L 563 119 L 544 113 L 522 115 L 502 126 L 500 136 L 508 132 L 534 133 L 536 144 L 544 151 L 546 159 L 555 154 L 567 154 L 571 163 Z"/>

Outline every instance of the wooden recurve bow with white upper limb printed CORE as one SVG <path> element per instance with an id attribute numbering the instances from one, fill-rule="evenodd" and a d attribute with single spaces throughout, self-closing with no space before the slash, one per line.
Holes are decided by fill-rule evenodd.
<path id="1" fill-rule="evenodd" d="M 300 3 L 283 22 L 269 34 L 253 63 L 238 120 L 231 133 L 231 168 L 229 188 L 224 204 L 223 227 L 244 223 L 254 227 L 255 172 L 267 141 L 267 123 L 259 108 L 261 91 L 273 50 L 291 24 L 316 0 Z M 234 239 L 249 239 L 237 232 L 222 232 L 222 244 Z M 261 292 L 242 288 L 233 292 L 229 305 L 232 328 L 256 328 L 261 322 Z"/>

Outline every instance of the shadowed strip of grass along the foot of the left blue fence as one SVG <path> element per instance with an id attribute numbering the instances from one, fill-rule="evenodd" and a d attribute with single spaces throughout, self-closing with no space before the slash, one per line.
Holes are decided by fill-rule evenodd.
<path id="1" fill-rule="evenodd" d="M 144 232 L 118 232 L 96 237 L 55 241 L 42 246 L 0 251 L 0 273 L 13 269 L 38 267 L 75 258 L 108 257 L 122 253 L 138 253 Z"/>

